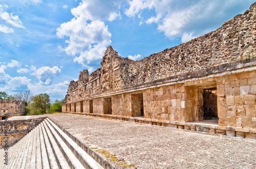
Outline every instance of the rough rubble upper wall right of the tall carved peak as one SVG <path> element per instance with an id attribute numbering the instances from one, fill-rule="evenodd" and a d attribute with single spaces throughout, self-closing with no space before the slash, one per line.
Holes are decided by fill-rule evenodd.
<path id="1" fill-rule="evenodd" d="M 122 68 L 122 87 L 255 57 L 255 10 L 254 3 L 216 31 L 129 63 Z"/>

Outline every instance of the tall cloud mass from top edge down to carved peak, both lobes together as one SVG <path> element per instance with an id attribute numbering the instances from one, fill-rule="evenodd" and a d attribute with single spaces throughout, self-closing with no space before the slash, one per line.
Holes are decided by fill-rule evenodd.
<path id="1" fill-rule="evenodd" d="M 69 37 L 66 40 L 68 46 L 63 50 L 75 57 L 74 62 L 87 66 L 91 61 L 101 59 L 106 46 L 111 44 L 111 33 L 101 20 L 115 19 L 114 13 L 120 5 L 106 8 L 108 6 L 111 6 L 108 1 L 82 1 L 77 8 L 71 10 L 75 18 L 58 27 L 59 38 Z"/>

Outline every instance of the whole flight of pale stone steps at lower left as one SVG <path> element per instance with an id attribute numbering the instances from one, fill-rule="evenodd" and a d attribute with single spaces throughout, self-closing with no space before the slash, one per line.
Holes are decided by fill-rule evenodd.
<path id="1" fill-rule="evenodd" d="M 8 150 L 0 168 L 103 168 L 48 118 Z"/>

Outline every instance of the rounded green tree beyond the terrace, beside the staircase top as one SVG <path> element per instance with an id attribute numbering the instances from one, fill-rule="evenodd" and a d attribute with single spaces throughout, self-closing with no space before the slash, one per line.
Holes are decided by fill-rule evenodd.
<path id="1" fill-rule="evenodd" d="M 31 101 L 30 115 L 46 114 L 47 110 L 50 109 L 50 96 L 46 93 L 34 96 Z"/>

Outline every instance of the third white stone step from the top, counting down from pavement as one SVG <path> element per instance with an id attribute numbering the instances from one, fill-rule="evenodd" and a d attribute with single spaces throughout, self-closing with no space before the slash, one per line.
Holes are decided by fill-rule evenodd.
<path id="1" fill-rule="evenodd" d="M 65 157 L 61 153 L 61 150 L 58 147 L 58 144 L 56 143 L 54 137 L 52 136 L 52 133 L 50 132 L 50 129 L 48 128 L 45 121 L 42 122 L 44 124 L 46 134 L 48 136 L 51 148 L 53 150 L 54 156 L 56 157 L 57 164 L 59 168 L 70 168 L 68 162 L 66 161 Z M 66 155 L 66 154 L 65 154 Z"/>

